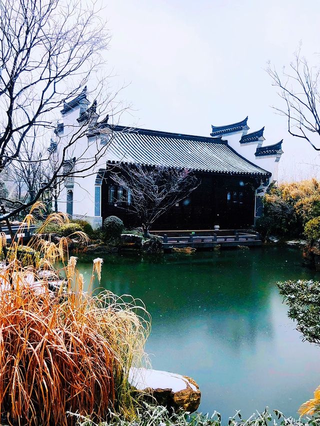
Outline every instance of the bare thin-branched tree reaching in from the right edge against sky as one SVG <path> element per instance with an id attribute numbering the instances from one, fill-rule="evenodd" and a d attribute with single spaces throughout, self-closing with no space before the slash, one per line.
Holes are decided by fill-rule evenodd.
<path id="1" fill-rule="evenodd" d="M 286 117 L 290 135 L 305 139 L 320 151 L 315 142 L 320 136 L 320 67 L 310 66 L 299 47 L 288 70 L 283 67 L 278 73 L 269 63 L 266 71 L 285 105 L 273 108 Z"/>

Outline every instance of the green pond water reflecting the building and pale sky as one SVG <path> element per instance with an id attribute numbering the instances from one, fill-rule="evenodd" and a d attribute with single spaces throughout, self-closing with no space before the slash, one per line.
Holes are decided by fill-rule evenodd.
<path id="1" fill-rule="evenodd" d="M 89 279 L 93 257 L 79 259 Z M 301 341 L 276 281 L 318 279 L 295 248 L 167 254 L 160 260 L 103 256 L 101 284 L 131 294 L 152 316 L 152 368 L 192 377 L 199 411 L 224 419 L 265 406 L 296 416 L 320 384 L 320 347 Z"/>

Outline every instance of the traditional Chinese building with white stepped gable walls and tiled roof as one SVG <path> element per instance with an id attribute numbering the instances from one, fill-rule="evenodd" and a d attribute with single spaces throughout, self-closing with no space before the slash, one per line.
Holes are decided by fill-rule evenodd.
<path id="1" fill-rule="evenodd" d="M 85 136 L 76 142 L 79 152 L 82 144 L 88 152 L 103 145 L 106 150 L 94 166 L 94 173 L 66 180 L 59 210 L 88 220 L 93 226 L 101 225 L 110 215 L 120 217 L 127 227 L 137 226 L 136 218 L 128 213 L 130 193 L 115 186 L 109 177 L 110 167 L 114 170 L 116 164 L 125 162 L 185 168 L 200 182 L 188 199 L 158 219 L 154 229 L 212 229 L 214 225 L 240 229 L 253 225 L 260 215 L 259 196 L 277 178 L 282 140 L 264 144 L 264 128 L 248 132 L 248 117 L 234 124 L 212 125 L 210 135 L 205 137 L 112 126 L 107 119 L 98 120 L 94 104 L 90 108 L 85 90 L 65 103 L 53 143 L 57 147 L 63 144 L 63 138 L 69 138 L 90 115 L 93 124 L 91 120 Z M 75 148 L 65 167 L 76 169 L 77 160 Z"/>

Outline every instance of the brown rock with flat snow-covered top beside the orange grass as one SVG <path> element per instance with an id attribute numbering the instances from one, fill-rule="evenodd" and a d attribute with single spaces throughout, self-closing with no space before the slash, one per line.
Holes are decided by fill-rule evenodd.
<path id="1" fill-rule="evenodd" d="M 200 405 L 201 393 L 194 380 L 187 376 L 165 371 L 131 368 L 129 383 L 138 391 L 143 391 L 145 399 L 174 410 L 182 409 L 189 413 Z"/>

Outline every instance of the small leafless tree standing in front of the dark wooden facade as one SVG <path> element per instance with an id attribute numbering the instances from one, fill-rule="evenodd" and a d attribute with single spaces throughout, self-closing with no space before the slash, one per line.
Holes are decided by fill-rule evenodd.
<path id="1" fill-rule="evenodd" d="M 127 209 L 137 216 L 145 236 L 156 219 L 198 186 L 194 174 L 186 169 L 124 163 L 118 168 L 111 179 L 129 194 Z"/>

